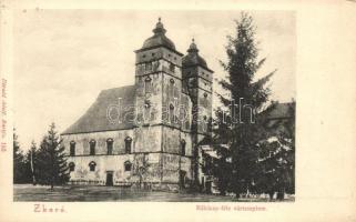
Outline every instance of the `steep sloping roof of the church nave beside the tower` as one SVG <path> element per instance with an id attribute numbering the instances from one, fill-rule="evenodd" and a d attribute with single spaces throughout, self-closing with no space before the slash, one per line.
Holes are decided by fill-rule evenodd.
<path id="1" fill-rule="evenodd" d="M 135 87 L 128 85 L 114 89 L 108 89 L 100 92 L 95 102 L 88 109 L 88 111 L 71 127 L 69 127 L 61 134 L 74 134 L 85 132 L 98 132 L 98 131 L 111 131 L 111 130 L 123 130 L 132 129 L 133 122 L 123 121 L 124 114 L 132 112 L 133 109 L 125 109 L 128 107 L 134 107 Z M 119 105 L 120 99 L 120 105 Z M 106 117 L 108 109 L 112 105 L 115 108 L 111 109 L 112 120 Z M 120 120 L 118 121 L 118 109 L 120 107 Z"/>

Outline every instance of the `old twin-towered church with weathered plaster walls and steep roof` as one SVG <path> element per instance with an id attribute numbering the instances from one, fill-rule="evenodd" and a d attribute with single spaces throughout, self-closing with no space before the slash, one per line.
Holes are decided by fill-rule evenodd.
<path id="1" fill-rule="evenodd" d="M 100 92 L 61 133 L 71 184 L 204 185 L 200 142 L 210 135 L 213 71 L 192 41 L 183 54 L 159 19 L 135 51 L 133 85 Z"/>

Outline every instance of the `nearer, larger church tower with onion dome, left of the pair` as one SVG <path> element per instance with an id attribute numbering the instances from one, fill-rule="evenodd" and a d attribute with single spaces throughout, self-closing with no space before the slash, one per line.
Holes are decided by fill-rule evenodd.
<path id="1" fill-rule="evenodd" d="M 153 36 L 135 51 L 134 153 L 143 153 L 156 165 L 159 182 L 184 185 L 191 178 L 191 113 L 190 97 L 182 89 L 182 57 L 165 36 L 161 19 Z M 185 114 L 185 118 L 181 118 Z"/>

